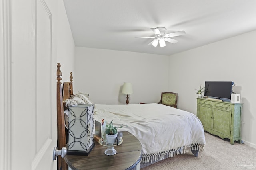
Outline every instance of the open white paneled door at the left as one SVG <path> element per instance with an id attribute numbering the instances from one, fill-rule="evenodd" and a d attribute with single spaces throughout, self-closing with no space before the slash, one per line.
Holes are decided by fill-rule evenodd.
<path id="1" fill-rule="evenodd" d="M 0 0 L 0 11 L 0 169 L 56 170 L 56 1 Z"/>

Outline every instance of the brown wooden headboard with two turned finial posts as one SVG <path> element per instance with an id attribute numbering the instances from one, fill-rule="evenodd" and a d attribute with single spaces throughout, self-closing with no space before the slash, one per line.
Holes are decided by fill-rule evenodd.
<path id="1" fill-rule="evenodd" d="M 64 108 L 66 109 L 65 101 L 73 95 L 73 76 L 70 73 L 70 81 L 63 83 L 63 91 L 61 86 L 61 76 L 60 63 L 57 63 L 57 147 L 61 150 L 62 147 L 66 146 L 66 128 L 65 128 L 65 118 L 64 118 Z M 58 170 L 68 170 L 68 165 L 66 164 L 64 158 L 58 156 Z"/>

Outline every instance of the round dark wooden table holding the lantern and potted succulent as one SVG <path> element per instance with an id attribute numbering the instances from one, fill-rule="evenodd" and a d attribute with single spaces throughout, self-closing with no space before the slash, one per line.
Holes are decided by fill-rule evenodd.
<path id="1" fill-rule="evenodd" d="M 107 156 L 106 147 L 95 142 L 88 156 L 66 155 L 65 161 L 72 170 L 130 170 L 140 169 L 142 147 L 140 141 L 131 133 L 123 132 L 123 143 L 115 147 L 117 153 Z"/>

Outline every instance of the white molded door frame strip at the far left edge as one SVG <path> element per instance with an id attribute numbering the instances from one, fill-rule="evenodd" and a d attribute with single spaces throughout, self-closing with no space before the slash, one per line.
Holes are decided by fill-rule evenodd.
<path id="1" fill-rule="evenodd" d="M 0 0 L 0 169 L 9 170 L 11 150 L 10 1 Z M 3 104 L 3 106 L 2 106 Z"/>

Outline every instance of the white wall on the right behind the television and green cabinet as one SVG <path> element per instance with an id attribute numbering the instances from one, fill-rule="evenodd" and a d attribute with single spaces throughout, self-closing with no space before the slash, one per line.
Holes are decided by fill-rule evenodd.
<path id="1" fill-rule="evenodd" d="M 196 88 L 205 81 L 233 81 L 241 95 L 242 140 L 256 148 L 256 31 L 170 56 L 169 89 L 179 94 L 179 108 L 196 114 Z M 175 63 L 175 64 L 173 64 Z"/>

